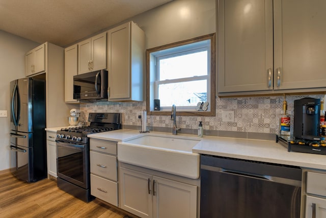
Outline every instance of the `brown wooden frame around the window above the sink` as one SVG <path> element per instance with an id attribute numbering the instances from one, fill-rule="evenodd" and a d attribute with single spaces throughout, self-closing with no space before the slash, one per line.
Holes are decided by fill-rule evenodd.
<path id="1" fill-rule="evenodd" d="M 152 63 L 150 63 L 150 57 L 151 53 L 158 52 L 161 50 L 166 50 L 166 49 L 171 49 L 173 47 L 181 46 L 181 45 L 186 45 L 186 44 L 191 44 L 199 41 L 204 41 L 204 40 L 210 40 L 210 93 L 207 95 L 210 96 L 207 101 L 210 104 L 210 111 L 196 111 L 195 109 L 193 111 L 189 110 L 183 110 L 183 107 L 178 107 L 177 106 L 177 115 L 183 115 L 183 116 L 215 116 L 215 80 L 216 80 L 216 71 L 215 71 L 215 33 L 204 35 L 204 36 L 199 36 L 196 38 L 192 39 L 187 39 L 179 42 L 174 42 L 171 44 L 167 45 L 162 45 L 162 46 L 157 46 L 152 49 L 147 49 L 146 50 L 146 111 L 150 115 L 171 115 L 171 111 L 154 111 L 150 110 L 150 102 L 153 100 L 153 96 L 151 98 L 150 96 L 150 83 L 151 83 L 151 76 L 154 76 L 153 70 L 151 71 L 150 69 L 153 69 L 155 66 L 152 66 Z M 153 94 L 153 93 L 152 93 Z M 166 107 L 165 107 L 166 108 Z M 172 105 L 171 105 L 172 108 Z M 191 107 L 188 107 L 191 108 Z"/>

